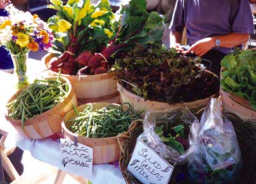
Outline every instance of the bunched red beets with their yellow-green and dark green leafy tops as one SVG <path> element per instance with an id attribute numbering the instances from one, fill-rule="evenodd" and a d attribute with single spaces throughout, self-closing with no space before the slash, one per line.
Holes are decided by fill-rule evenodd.
<path id="1" fill-rule="evenodd" d="M 105 0 L 99 4 L 90 4 L 90 0 L 51 3 L 58 12 L 48 20 L 49 27 L 56 34 L 55 47 L 63 48 L 61 56 L 49 63 L 54 72 L 61 68 L 69 75 L 106 73 L 114 64 L 109 57 L 116 50 L 133 47 L 135 42 L 160 43 L 163 36 L 163 19 L 157 12 L 147 12 L 145 0 L 130 1 L 116 13 L 120 17 L 116 21 Z"/>

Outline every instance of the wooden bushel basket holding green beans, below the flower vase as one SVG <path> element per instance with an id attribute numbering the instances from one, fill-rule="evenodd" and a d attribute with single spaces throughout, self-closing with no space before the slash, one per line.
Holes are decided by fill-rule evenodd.
<path id="1" fill-rule="evenodd" d="M 56 80 L 56 78 L 57 77 L 48 77 L 47 79 Z M 67 92 L 67 96 L 63 98 L 61 102 L 52 107 L 52 109 L 49 109 L 48 111 L 45 111 L 33 118 L 26 119 L 23 130 L 21 127 L 21 120 L 8 117 L 8 113 L 6 112 L 6 119 L 12 123 L 13 127 L 15 127 L 20 134 L 24 135 L 24 137 L 30 139 L 41 139 L 61 132 L 61 120 L 63 116 L 65 116 L 66 112 L 73 108 L 73 105 L 77 106 L 77 98 L 68 79 L 60 77 L 60 80 L 68 82 L 69 90 Z M 12 102 L 16 96 L 26 88 L 28 87 L 17 91 L 15 95 L 10 98 L 8 103 Z"/>

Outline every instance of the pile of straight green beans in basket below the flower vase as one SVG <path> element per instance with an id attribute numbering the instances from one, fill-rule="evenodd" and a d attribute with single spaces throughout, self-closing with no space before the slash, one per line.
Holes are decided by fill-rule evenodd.
<path id="1" fill-rule="evenodd" d="M 21 119 L 24 128 L 26 119 L 52 109 L 65 97 L 66 91 L 67 83 L 60 82 L 59 78 L 56 81 L 36 79 L 15 100 L 6 105 L 8 116 L 12 119 Z"/>

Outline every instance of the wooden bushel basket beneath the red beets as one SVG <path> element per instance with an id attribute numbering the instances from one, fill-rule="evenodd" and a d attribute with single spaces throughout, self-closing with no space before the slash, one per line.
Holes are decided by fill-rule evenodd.
<path id="1" fill-rule="evenodd" d="M 45 66 L 49 66 L 49 61 L 54 57 L 53 54 L 46 54 L 42 58 Z M 54 76 L 58 73 L 47 70 L 48 75 Z M 65 75 L 71 82 L 76 91 L 79 104 L 92 102 L 119 103 L 120 95 L 116 90 L 116 80 L 113 79 L 115 72 L 102 73 L 99 75 Z"/>

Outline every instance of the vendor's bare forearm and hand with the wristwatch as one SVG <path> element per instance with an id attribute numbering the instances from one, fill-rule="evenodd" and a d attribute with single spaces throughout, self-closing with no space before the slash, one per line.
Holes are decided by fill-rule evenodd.
<path id="1" fill-rule="evenodd" d="M 198 42 L 191 45 L 188 52 L 192 52 L 197 56 L 204 56 L 206 52 L 215 47 L 215 40 L 220 40 L 220 47 L 232 48 L 237 45 L 246 43 L 249 39 L 247 33 L 230 33 L 223 36 L 212 36 L 198 40 Z"/>

